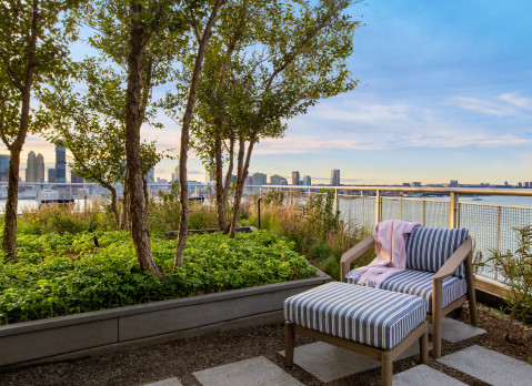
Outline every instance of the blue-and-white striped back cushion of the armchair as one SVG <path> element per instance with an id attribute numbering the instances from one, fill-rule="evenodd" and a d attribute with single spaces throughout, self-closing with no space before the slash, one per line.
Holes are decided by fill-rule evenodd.
<path id="1" fill-rule="evenodd" d="M 406 238 L 406 268 L 438 272 L 465 238 L 468 238 L 465 228 L 415 227 Z M 463 263 L 454 276 L 465 277 Z"/>

